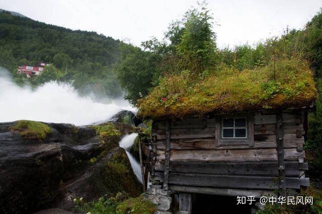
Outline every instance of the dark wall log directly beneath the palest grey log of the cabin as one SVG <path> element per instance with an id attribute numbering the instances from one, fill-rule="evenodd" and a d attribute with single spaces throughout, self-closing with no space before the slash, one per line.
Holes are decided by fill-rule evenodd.
<path id="1" fill-rule="evenodd" d="M 157 161 L 155 170 L 163 171 L 165 164 Z M 286 161 L 286 176 L 300 177 L 302 168 L 307 169 L 307 163 Z M 278 176 L 277 161 L 249 161 L 249 162 L 180 162 L 172 161 L 170 172 L 199 173 L 199 174 L 233 174 L 233 175 L 262 175 Z"/>

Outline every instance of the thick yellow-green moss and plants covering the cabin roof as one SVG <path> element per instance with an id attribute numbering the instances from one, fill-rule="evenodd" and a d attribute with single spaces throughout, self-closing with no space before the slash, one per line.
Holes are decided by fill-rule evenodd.
<path id="1" fill-rule="evenodd" d="M 275 67 L 275 72 L 274 72 Z M 275 73 L 275 74 L 274 74 Z M 206 77 L 184 71 L 163 78 L 142 100 L 142 118 L 234 113 L 311 105 L 317 91 L 307 63 L 281 59 L 275 66 L 237 71 L 218 66 Z"/>

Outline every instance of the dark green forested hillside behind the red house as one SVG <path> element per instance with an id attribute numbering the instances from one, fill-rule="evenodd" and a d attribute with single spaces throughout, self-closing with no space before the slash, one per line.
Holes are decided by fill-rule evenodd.
<path id="1" fill-rule="evenodd" d="M 29 82 L 38 86 L 49 80 L 73 81 L 81 93 L 120 96 L 122 91 L 112 73 L 112 65 L 120 57 L 119 43 L 95 32 L 72 31 L 9 12 L 0 13 L 0 66 L 12 71 L 19 84 Z M 16 74 L 18 66 L 37 65 L 40 61 L 56 68 L 28 79 Z"/>

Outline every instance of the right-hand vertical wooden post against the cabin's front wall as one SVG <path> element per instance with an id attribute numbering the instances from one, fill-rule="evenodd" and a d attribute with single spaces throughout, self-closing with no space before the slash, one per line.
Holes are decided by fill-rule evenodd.
<path id="1" fill-rule="evenodd" d="M 283 137 L 283 121 L 282 114 L 276 114 L 276 130 L 277 130 L 277 162 L 278 162 L 278 187 L 279 195 L 286 196 L 286 180 L 285 180 L 285 163 L 284 163 L 284 137 Z"/>

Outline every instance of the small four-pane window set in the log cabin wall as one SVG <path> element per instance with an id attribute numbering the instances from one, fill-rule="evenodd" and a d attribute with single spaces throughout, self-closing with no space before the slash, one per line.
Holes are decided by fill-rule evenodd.
<path id="1" fill-rule="evenodd" d="M 222 118 L 222 138 L 247 138 L 247 118 Z"/>

